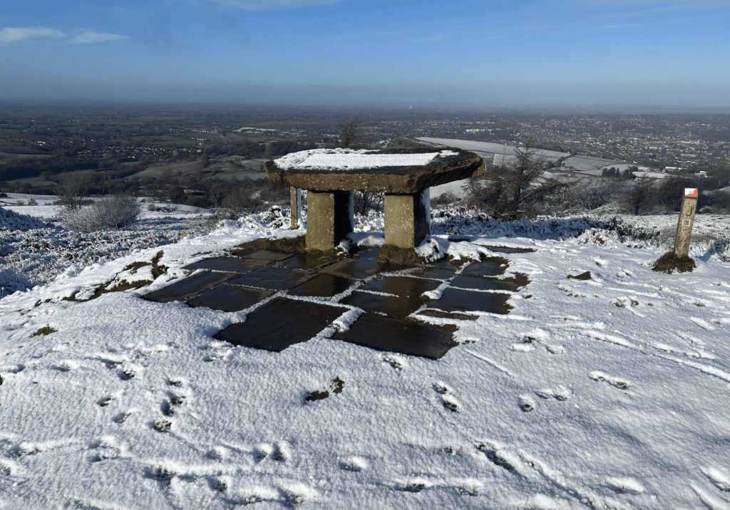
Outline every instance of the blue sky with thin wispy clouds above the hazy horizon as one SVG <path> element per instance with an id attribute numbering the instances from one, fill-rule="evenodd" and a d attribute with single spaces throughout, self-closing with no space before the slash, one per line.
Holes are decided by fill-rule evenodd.
<path id="1" fill-rule="evenodd" d="M 0 0 L 0 98 L 730 107 L 728 0 Z"/>

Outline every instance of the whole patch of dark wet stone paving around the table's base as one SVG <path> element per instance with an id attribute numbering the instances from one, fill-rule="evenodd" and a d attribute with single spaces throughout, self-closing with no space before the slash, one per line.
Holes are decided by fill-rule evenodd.
<path id="1" fill-rule="evenodd" d="M 531 250 L 504 249 L 507 253 L 525 251 Z M 475 320 L 484 312 L 507 314 L 510 311 L 507 301 L 512 293 L 529 283 L 523 274 L 513 274 L 505 279 L 502 275 L 508 261 L 501 257 L 468 264 L 461 260 L 439 260 L 420 268 L 409 268 L 407 274 L 392 274 L 401 267 L 378 263 L 378 252 L 374 249 L 359 257 L 333 258 L 240 249 L 228 257 L 210 258 L 186 266 L 208 271 L 175 281 L 144 298 L 161 302 L 188 301 L 193 307 L 204 306 L 223 312 L 238 312 L 255 306 L 275 291 L 287 291 L 292 297 L 314 298 L 315 301 L 286 296 L 275 298 L 250 312 L 245 322 L 231 325 L 215 335 L 216 339 L 237 346 L 280 351 L 311 339 L 347 312 L 344 306 L 336 306 L 334 301 L 330 302 L 335 306 L 328 306 L 324 300 L 350 290 L 339 303 L 357 306 L 364 314 L 348 331 L 336 333 L 334 339 L 438 359 L 456 345 L 453 332 L 442 326 L 418 322 L 419 316 L 427 322 L 426 317 Z M 456 271 L 460 274 L 456 275 Z M 362 285 L 351 290 L 358 281 Z M 422 297 L 423 293 L 435 290 L 444 282 L 447 287 L 437 300 Z"/>

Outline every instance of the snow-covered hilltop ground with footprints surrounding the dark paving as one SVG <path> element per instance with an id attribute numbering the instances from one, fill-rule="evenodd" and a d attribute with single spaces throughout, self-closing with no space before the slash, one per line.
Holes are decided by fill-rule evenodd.
<path id="1" fill-rule="evenodd" d="M 666 245 L 649 234 L 676 217 L 626 220 L 439 213 L 447 252 L 535 250 L 506 255 L 531 281 L 510 314 L 451 320 L 461 345 L 440 360 L 334 328 L 231 347 L 212 335 L 245 312 L 139 298 L 204 253 L 301 235 L 261 215 L 69 267 L 0 300 L 0 507 L 728 509 L 729 220 L 698 215 L 698 267 L 671 275 L 651 271 Z M 152 279 L 129 267 L 160 251 L 152 284 L 64 301 Z M 342 393 L 304 400 L 336 378 Z"/>

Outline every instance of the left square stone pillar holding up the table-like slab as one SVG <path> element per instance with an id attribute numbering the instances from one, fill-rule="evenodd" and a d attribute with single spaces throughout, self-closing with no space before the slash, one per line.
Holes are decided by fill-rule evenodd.
<path id="1" fill-rule="evenodd" d="M 353 192 L 307 193 L 307 250 L 334 250 L 353 231 Z"/>

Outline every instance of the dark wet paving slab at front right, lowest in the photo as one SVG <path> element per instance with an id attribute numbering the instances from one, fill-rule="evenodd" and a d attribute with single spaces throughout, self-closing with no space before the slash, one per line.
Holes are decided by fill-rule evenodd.
<path id="1" fill-rule="evenodd" d="M 335 333 L 332 338 L 379 351 L 437 360 L 458 345 L 452 336 L 451 331 L 438 326 L 365 313 L 349 330 Z"/>

